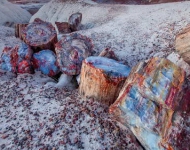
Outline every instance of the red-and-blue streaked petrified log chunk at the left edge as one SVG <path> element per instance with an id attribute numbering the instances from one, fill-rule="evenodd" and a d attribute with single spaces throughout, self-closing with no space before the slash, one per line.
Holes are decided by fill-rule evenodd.
<path id="1" fill-rule="evenodd" d="M 15 47 L 5 47 L 0 59 L 1 69 L 14 73 L 33 73 L 32 54 L 32 49 L 24 42 Z"/>

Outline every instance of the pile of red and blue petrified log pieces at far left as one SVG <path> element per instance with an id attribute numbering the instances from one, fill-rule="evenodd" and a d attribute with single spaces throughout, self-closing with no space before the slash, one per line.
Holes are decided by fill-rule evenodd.
<path id="1" fill-rule="evenodd" d="M 81 20 L 82 14 L 75 13 L 69 17 L 68 23 L 56 22 L 56 25 L 60 33 L 71 33 L 79 30 Z M 74 64 L 75 68 L 66 67 L 64 73 L 77 75 L 80 73 L 82 60 L 91 55 L 92 43 L 87 37 L 71 34 L 70 38 L 65 38 L 58 43 L 54 26 L 39 18 L 29 24 L 16 24 L 15 36 L 23 42 L 15 47 L 4 48 L 0 64 L 1 69 L 6 71 L 33 73 L 35 69 L 46 75 L 54 76 L 60 72 L 59 68 L 67 66 L 68 63 Z M 57 46 L 56 43 L 58 43 Z M 64 45 L 63 43 L 67 46 L 59 49 L 60 45 Z M 57 54 L 55 49 L 57 49 Z M 58 62 L 56 55 L 58 58 L 61 57 Z M 64 59 L 67 60 L 63 64 Z M 70 74 L 73 70 L 75 73 Z"/>

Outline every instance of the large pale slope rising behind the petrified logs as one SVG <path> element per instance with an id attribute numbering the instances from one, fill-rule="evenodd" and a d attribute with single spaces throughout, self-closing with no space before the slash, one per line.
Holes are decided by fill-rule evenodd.
<path id="1" fill-rule="evenodd" d="M 190 2 L 158 5 L 109 5 L 85 0 L 52 0 L 32 18 L 54 24 L 68 21 L 75 12 L 83 14 L 79 33 L 90 37 L 96 54 L 111 47 L 130 66 L 152 56 L 175 51 L 175 35 L 190 23 Z"/>

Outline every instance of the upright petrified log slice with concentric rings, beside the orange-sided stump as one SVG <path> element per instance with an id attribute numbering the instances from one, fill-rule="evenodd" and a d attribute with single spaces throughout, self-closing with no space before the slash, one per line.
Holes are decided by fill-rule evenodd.
<path id="1" fill-rule="evenodd" d="M 92 42 L 86 36 L 73 33 L 62 38 L 55 49 L 60 70 L 68 75 L 80 74 L 82 61 L 92 55 L 92 48 Z"/>

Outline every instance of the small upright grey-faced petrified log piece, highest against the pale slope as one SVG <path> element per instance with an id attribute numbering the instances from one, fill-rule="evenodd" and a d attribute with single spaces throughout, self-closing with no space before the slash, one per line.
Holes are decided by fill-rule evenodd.
<path id="1" fill-rule="evenodd" d="M 81 13 L 74 13 L 69 17 L 69 25 L 72 32 L 79 30 L 79 26 L 82 21 L 82 14 Z"/>

